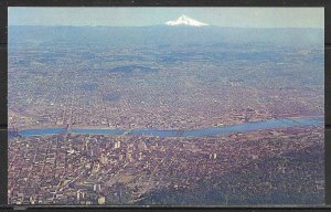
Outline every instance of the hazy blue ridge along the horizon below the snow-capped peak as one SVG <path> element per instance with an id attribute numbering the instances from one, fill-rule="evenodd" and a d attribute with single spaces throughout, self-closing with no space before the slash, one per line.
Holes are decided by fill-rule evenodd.
<path id="1" fill-rule="evenodd" d="M 186 45 L 186 44 L 275 44 L 301 46 L 324 44 L 322 29 L 249 29 L 209 25 L 153 26 L 9 26 L 9 45 L 100 44 Z"/>

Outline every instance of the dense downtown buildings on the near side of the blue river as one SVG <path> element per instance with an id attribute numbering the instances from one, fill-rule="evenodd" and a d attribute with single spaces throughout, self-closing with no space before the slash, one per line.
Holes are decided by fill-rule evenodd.
<path id="1" fill-rule="evenodd" d="M 322 127 L 196 138 L 129 135 L 13 137 L 9 141 L 9 202 L 137 203 L 158 190 L 194 191 L 201 180 L 222 179 L 222 176 L 235 173 L 246 166 L 254 167 L 266 157 L 287 161 L 290 153 L 316 144 L 323 144 Z M 300 160 L 296 162 L 299 168 Z M 307 171 L 295 169 L 291 162 L 275 166 L 282 171 L 282 176 L 277 176 L 279 182 L 287 173 L 295 172 L 299 178 Z M 318 171 L 312 165 L 309 172 L 313 176 Z M 316 190 L 323 189 L 322 176 L 313 180 Z M 209 187 L 220 182 L 222 180 L 213 181 Z M 231 181 L 227 183 L 232 184 Z M 233 187 L 248 189 L 244 184 Z M 273 188 L 277 188 L 277 183 Z"/>

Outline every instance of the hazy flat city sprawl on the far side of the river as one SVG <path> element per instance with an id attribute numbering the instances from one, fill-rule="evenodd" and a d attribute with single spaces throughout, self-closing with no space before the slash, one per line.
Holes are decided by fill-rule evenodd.
<path id="1" fill-rule="evenodd" d="M 191 129 L 323 114 L 323 66 L 297 64 L 302 56 L 298 51 L 256 46 L 255 52 L 287 55 L 278 64 L 269 57 L 222 61 L 216 56 L 235 56 L 238 51 L 248 54 L 249 49 L 90 47 L 73 49 L 75 56 L 61 46 L 13 47 L 9 61 L 10 127 L 73 124 Z M 205 60 L 185 56 L 196 52 Z M 305 52 L 310 57 L 318 53 Z M 159 60 L 171 53 L 183 59 Z"/>

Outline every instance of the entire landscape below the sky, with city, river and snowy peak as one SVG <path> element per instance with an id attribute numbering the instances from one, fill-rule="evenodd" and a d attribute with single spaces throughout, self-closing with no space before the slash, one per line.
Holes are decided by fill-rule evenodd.
<path id="1" fill-rule="evenodd" d="M 216 42 L 226 29 L 170 23 L 57 29 L 88 42 L 9 28 L 10 204 L 324 203 L 323 31 Z M 211 35 L 152 40 L 193 31 Z"/>

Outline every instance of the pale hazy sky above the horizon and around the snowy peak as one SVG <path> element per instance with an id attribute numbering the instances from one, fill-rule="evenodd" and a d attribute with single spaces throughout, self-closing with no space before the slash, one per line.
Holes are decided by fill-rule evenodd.
<path id="1" fill-rule="evenodd" d="M 20 8 L 8 25 L 160 25 L 185 14 L 211 25 L 324 29 L 324 8 Z"/>

